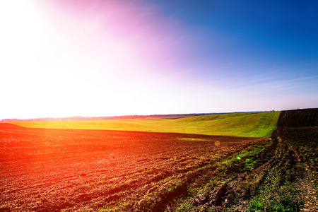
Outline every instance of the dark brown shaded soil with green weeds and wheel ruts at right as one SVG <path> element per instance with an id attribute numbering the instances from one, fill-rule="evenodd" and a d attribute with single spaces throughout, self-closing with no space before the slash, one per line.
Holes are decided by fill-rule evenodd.
<path id="1" fill-rule="evenodd" d="M 281 112 L 255 167 L 226 167 L 217 178 L 226 180 L 198 192 L 190 211 L 318 211 L 317 119 L 317 109 Z"/>

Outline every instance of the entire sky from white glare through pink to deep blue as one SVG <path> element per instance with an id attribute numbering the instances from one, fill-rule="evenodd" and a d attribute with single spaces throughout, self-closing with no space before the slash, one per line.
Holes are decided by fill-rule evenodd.
<path id="1" fill-rule="evenodd" d="M 318 107 L 317 1 L 0 3 L 0 119 Z"/>

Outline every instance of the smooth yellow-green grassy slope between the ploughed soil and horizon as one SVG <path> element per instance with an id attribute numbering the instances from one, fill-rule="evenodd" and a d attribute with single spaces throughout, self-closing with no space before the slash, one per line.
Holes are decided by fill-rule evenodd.
<path id="1" fill-rule="evenodd" d="M 109 129 L 220 136 L 264 137 L 276 129 L 280 112 L 211 114 L 180 119 L 114 119 L 100 121 L 11 122 L 29 128 Z"/>

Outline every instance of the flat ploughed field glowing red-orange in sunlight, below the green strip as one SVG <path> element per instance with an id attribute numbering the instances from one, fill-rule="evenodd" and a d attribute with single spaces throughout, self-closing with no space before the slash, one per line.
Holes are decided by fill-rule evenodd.
<path id="1" fill-rule="evenodd" d="M 11 124 L 0 124 L 0 137 L 2 211 L 98 210 L 117 205 L 124 206 L 123 211 L 142 209 L 145 196 L 160 194 L 177 182 L 186 183 L 194 170 L 215 164 L 215 155 L 224 158 L 262 141 L 134 131 L 26 129 Z M 215 167 L 206 169 L 207 175 L 215 172 Z M 119 203 L 123 199 L 131 205 Z M 158 196 L 153 204 L 159 206 L 160 201 L 163 198 Z"/>

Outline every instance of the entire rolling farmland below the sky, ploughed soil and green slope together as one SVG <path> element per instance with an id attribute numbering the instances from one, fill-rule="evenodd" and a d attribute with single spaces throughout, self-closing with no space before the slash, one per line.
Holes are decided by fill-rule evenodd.
<path id="1" fill-rule="evenodd" d="M 317 111 L 1 123 L 0 211 L 314 211 Z"/>

